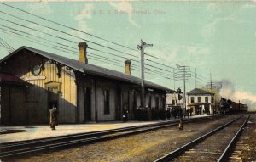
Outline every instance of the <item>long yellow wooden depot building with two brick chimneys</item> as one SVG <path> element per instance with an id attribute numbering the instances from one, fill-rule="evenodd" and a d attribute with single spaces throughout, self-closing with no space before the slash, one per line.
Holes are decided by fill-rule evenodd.
<path id="1" fill-rule="evenodd" d="M 79 60 L 32 47 L 20 47 L 0 61 L 1 125 L 49 122 L 55 104 L 60 123 L 122 120 L 124 109 L 135 120 L 141 105 L 140 78 L 88 64 L 87 44 L 79 43 Z M 4 78 L 4 77 L 3 77 Z M 166 87 L 144 81 L 145 105 L 166 108 Z"/>

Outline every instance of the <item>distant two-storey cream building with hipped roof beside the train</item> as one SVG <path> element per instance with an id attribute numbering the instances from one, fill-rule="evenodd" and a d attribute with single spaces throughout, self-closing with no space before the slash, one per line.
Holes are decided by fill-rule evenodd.
<path id="1" fill-rule="evenodd" d="M 192 91 L 187 92 L 187 96 L 187 107 L 192 109 L 192 114 L 201 115 L 202 113 L 213 113 L 213 93 L 195 88 Z"/>

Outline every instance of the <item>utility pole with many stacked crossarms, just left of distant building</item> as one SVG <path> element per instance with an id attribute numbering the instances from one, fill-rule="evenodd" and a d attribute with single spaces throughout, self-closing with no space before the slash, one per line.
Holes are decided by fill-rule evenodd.
<path id="1" fill-rule="evenodd" d="M 185 110 L 187 108 L 186 105 L 186 80 L 189 79 L 189 77 L 191 77 L 191 73 L 190 73 L 190 68 L 189 66 L 181 66 L 181 65 L 177 65 L 177 78 L 183 80 L 183 87 L 184 87 L 184 91 L 183 91 L 183 107 L 185 107 Z"/>

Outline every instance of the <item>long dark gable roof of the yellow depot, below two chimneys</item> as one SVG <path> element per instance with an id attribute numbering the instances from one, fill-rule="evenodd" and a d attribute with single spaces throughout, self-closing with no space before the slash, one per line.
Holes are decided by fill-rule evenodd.
<path id="1" fill-rule="evenodd" d="M 61 64 L 65 64 L 68 67 L 72 68 L 73 70 L 78 70 L 81 73 L 102 76 L 102 77 L 106 77 L 106 78 L 118 80 L 118 81 L 125 81 L 125 82 L 136 84 L 136 85 L 141 85 L 141 82 L 142 82 L 142 79 L 135 76 L 125 75 L 118 71 L 108 70 L 106 68 L 102 68 L 93 64 L 84 64 L 78 60 L 68 59 L 60 55 L 48 53 L 45 51 L 41 51 L 32 47 L 26 47 L 26 46 L 22 46 L 19 49 L 15 50 L 13 53 L 9 53 L 9 55 L 7 55 L 5 58 L 0 60 L 0 64 L 2 64 L 3 61 L 5 61 L 6 59 L 9 59 L 11 56 L 15 55 L 16 53 L 20 53 L 20 51 L 22 50 L 26 50 L 28 53 L 35 53 L 40 56 L 43 56 L 44 58 L 52 59 Z M 145 87 L 151 87 L 151 88 L 159 89 L 162 91 L 172 91 L 167 87 L 157 85 L 150 81 L 145 80 L 144 84 L 145 84 Z"/>

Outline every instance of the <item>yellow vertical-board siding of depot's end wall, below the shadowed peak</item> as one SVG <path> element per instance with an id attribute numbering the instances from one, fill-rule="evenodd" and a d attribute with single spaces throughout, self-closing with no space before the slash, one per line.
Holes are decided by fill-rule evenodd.
<path id="1" fill-rule="evenodd" d="M 50 82 L 61 83 L 61 92 L 59 95 L 59 122 L 60 123 L 75 123 L 77 89 L 74 82 L 73 70 L 67 70 L 62 67 L 61 77 L 57 75 L 56 65 L 47 62 L 44 64 L 44 70 L 38 76 L 45 76 L 45 80 L 28 81 L 34 86 L 29 87 L 27 91 L 27 110 L 28 117 L 32 123 L 45 123 L 48 121 L 49 101 L 48 90 L 46 84 Z M 32 77 L 32 73 L 28 72 L 22 75 L 21 78 L 26 80 L 26 77 Z M 37 77 L 36 77 L 37 78 Z"/>

